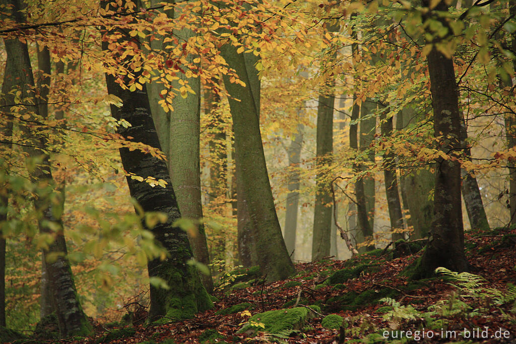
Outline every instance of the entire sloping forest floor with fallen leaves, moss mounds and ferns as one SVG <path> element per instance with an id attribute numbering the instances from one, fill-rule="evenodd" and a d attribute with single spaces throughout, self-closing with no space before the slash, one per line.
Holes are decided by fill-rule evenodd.
<path id="1" fill-rule="evenodd" d="M 411 281 L 404 271 L 421 256 L 411 252 L 417 244 L 296 264 L 295 276 L 271 284 L 240 270 L 215 292 L 215 308 L 196 318 L 146 325 L 140 308 L 133 323 L 97 323 L 94 337 L 60 342 L 516 342 L 515 230 L 467 231 L 471 274 Z M 280 311 L 261 314 L 270 310 Z"/>

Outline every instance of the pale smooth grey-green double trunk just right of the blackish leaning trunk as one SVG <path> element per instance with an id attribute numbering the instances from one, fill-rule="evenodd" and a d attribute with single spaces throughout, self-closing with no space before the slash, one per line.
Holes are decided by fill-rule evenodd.
<path id="1" fill-rule="evenodd" d="M 180 5 L 174 10 L 167 11 L 170 18 L 177 19 L 181 16 Z M 191 29 L 183 28 L 176 30 L 174 35 L 180 42 L 187 42 L 195 33 Z M 164 50 L 166 43 L 162 40 L 154 40 L 151 46 L 158 50 Z M 195 65 L 193 59 L 196 56 L 186 57 L 188 64 Z M 165 65 L 165 64 L 164 64 Z M 179 66 L 187 70 L 187 66 Z M 192 70 L 196 73 L 195 70 Z M 172 101 L 172 112 L 167 112 L 158 104 L 159 92 L 162 85 L 150 83 L 148 93 L 151 113 L 157 129 L 159 142 L 167 156 L 168 170 L 172 185 L 174 185 L 181 215 L 191 219 L 195 224 L 189 228 L 188 239 L 195 259 L 205 265 L 210 263 L 206 233 L 204 224 L 199 222 L 202 219 L 201 200 L 201 171 L 200 171 L 200 114 L 201 114 L 201 84 L 200 77 L 186 77 L 184 73 L 177 73 L 180 79 L 187 82 L 195 95 L 188 95 L 183 98 L 176 95 Z M 172 87 L 180 88 L 178 81 L 172 82 Z M 213 280 L 209 275 L 200 275 L 204 287 L 213 291 Z"/>

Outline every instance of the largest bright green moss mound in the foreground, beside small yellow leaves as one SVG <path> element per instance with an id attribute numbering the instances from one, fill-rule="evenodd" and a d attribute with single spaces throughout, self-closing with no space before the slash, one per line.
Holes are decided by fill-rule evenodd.
<path id="1" fill-rule="evenodd" d="M 310 306 L 320 312 L 319 306 Z M 269 333 L 279 333 L 288 330 L 299 330 L 307 319 L 316 315 L 306 307 L 296 307 L 288 309 L 269 310 L 264 313 L 256 314 L 249 318 L 249 321 L 237 333 L 255 333 L 264 331 Z M 262 327 L 253 326 L 251 323 L 262 323 Z"/>

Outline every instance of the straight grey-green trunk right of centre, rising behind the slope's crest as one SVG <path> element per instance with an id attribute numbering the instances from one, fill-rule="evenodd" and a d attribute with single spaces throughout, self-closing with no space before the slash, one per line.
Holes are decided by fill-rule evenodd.
<path id="1" fill-rule="evenodd" d="M 326 23 L 326 32 L 338 32 L 338 21 L 331 25 Z M 337 57 L 336 51 L 324 58 L 321 64 L 322 73 L 326 73 Z M 317 103 L 317 137 L 316 166 L 319 169 L 315 179 L 314 225 L 312 236 L 312 261 L 321 260 L 330 255 L 332 196 L 327 180 L 326 167 L 332 162 L 333 154 L 333 110 L 335 108 L 335 76 L 328 76 L 320 90 Z"/>

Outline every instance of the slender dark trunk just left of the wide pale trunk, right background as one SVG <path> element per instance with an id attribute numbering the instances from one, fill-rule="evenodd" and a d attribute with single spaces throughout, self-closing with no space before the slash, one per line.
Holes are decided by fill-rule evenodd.
<path id="1" fill-rule="evenodd" d="M 382 119 L 381 132 L 383 137 L 392 135 L 393 118 Z M 398 180 L 396 179 L 394 153 L 383 155 L 383 177 L 385 178 L 385 194 L 387 206 L 389 208 L 389 218 L 391 221 L 392 241 L 405 239 L 404 233 L 399 233 L 403 229 L 403 215 L 401 213 L 401 202 L 399 200 Z"/>

